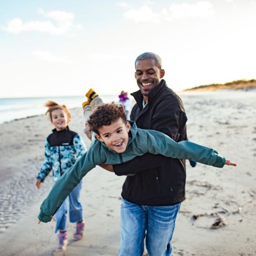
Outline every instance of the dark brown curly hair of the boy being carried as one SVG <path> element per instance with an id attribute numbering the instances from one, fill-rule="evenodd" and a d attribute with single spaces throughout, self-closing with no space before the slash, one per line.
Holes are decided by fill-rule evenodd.
<path id="1" fill-rule="evenodd" d="M 91 130 L 99 135 L 99 128 L 103 125 L 110 125 L 119 118 L 126 124 L 126 113 L 122 105 L 103 103 L 97 106 L 87 121 Z"/>

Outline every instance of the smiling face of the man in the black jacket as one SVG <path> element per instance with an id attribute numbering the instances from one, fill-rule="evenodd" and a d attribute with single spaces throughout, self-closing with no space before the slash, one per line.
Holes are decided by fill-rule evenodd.
<path id="1" fill-rule="evenodd" d="M 135 78 L 142 95 L 147 102 L 149 91 L 159 85 L 165 75 L 164 69 L 160 69 L 155 60 L 139 60 L 135 64 Z"/>

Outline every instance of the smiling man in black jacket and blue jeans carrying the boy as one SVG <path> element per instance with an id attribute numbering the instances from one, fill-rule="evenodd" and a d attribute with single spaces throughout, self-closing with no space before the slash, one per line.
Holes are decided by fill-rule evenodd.
<path id="1" fill-rule="evenodd" d="M 178 95 L 167 87 L 161 59 L 146 52 L 135 61 L 139 90 L 130 119 L 142 129 L 163 132 L 174 141 L 187 138 L 187 117 Z M 127 177 L 122 190 L 121 243 L 119 255 L 139 255 L 144 238 L 150 256 L 170 255 L 171 238 L 180 203 L 185 199 L 185 160 L 146 154 L 113 166 Z"/>

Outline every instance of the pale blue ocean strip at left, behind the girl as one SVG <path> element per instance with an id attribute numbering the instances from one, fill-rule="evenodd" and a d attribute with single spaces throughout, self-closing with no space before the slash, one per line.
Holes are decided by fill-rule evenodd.
<path id="1" fill-rule="evenodd" d="M 118 95 L 101 95 L 104 102 L 117 102 Z M 68 109 L 82 107 L 84 96 L 67 97 L 35 97 L 35 98 L 0 98 L 0 124 L 16 119 L 44 114 L 47 108 L 44 103 L 48 100 L 65 104 Z"/>

